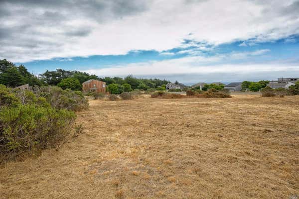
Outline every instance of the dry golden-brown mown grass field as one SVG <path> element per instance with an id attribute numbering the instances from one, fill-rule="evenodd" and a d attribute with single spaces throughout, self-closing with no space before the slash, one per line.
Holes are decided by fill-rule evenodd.
<path id="1" fill-rule="evenodd" d="M 299 96 L 101 101 L 59 151 L 0 168 L 0 199 L 289 199 Z"/>

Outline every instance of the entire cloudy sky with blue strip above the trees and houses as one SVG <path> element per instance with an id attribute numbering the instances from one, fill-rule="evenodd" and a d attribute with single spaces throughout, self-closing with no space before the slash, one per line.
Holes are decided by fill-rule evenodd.
<path id="1" fill-rule="evenodd" d="M 0 59 L 182 83 L 299 76 L 299 0 L 0 0 Z"/>

